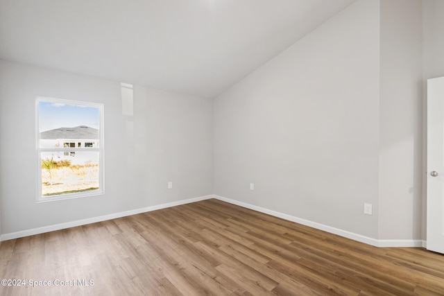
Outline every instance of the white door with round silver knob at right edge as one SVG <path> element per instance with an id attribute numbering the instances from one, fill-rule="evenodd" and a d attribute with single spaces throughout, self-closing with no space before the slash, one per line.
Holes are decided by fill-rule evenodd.
<path id="1" fill-rule="evenodd" d="M 444 254 L 444 77 L 427 80 L 427 249 Z"/>

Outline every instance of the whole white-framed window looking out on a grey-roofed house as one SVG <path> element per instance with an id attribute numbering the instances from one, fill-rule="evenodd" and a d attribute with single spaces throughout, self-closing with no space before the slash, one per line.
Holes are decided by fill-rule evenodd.
<path id="1" fill-rule="evenodd" d="M 103 193 L 103 105 L 37 97 L 37 201 Z"/>

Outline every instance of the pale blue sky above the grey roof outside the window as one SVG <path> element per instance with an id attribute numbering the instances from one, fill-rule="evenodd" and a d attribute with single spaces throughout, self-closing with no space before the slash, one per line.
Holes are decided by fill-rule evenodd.
<path id="1" fill-rule="evenodd" d="M 39 101 L 39 132 L 87 125 L 99 129 L 100 109 L 80 105 Z"/>

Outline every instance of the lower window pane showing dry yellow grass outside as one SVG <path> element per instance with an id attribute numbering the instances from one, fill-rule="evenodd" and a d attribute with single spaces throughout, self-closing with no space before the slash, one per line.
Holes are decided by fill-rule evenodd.
<path id="1" fill-rule="evenodd" d="M 42 196 L 99 189 L 99 152 L 42 152 Z"/>

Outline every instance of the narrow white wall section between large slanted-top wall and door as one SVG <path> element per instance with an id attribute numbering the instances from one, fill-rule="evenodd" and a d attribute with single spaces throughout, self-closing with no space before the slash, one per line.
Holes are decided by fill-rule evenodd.
<path id="1" fill-rule="evenodd" d="M 380 3 L 379 239 L 421 239 L 422 5 Z"/>

